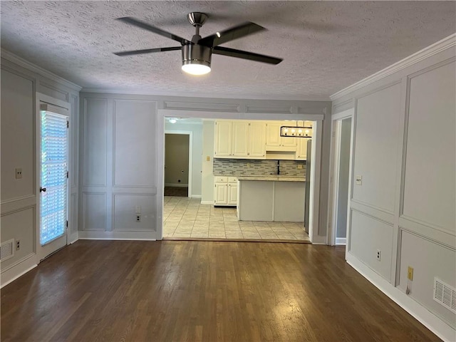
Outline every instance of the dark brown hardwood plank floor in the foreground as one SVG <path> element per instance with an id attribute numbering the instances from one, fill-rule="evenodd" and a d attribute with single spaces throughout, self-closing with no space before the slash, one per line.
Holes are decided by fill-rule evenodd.
<path id="1" fill-rule="evenodd" d="M 1 341 L 440 341 L 343 257 L 79 240 L 1 290 Z"/>

